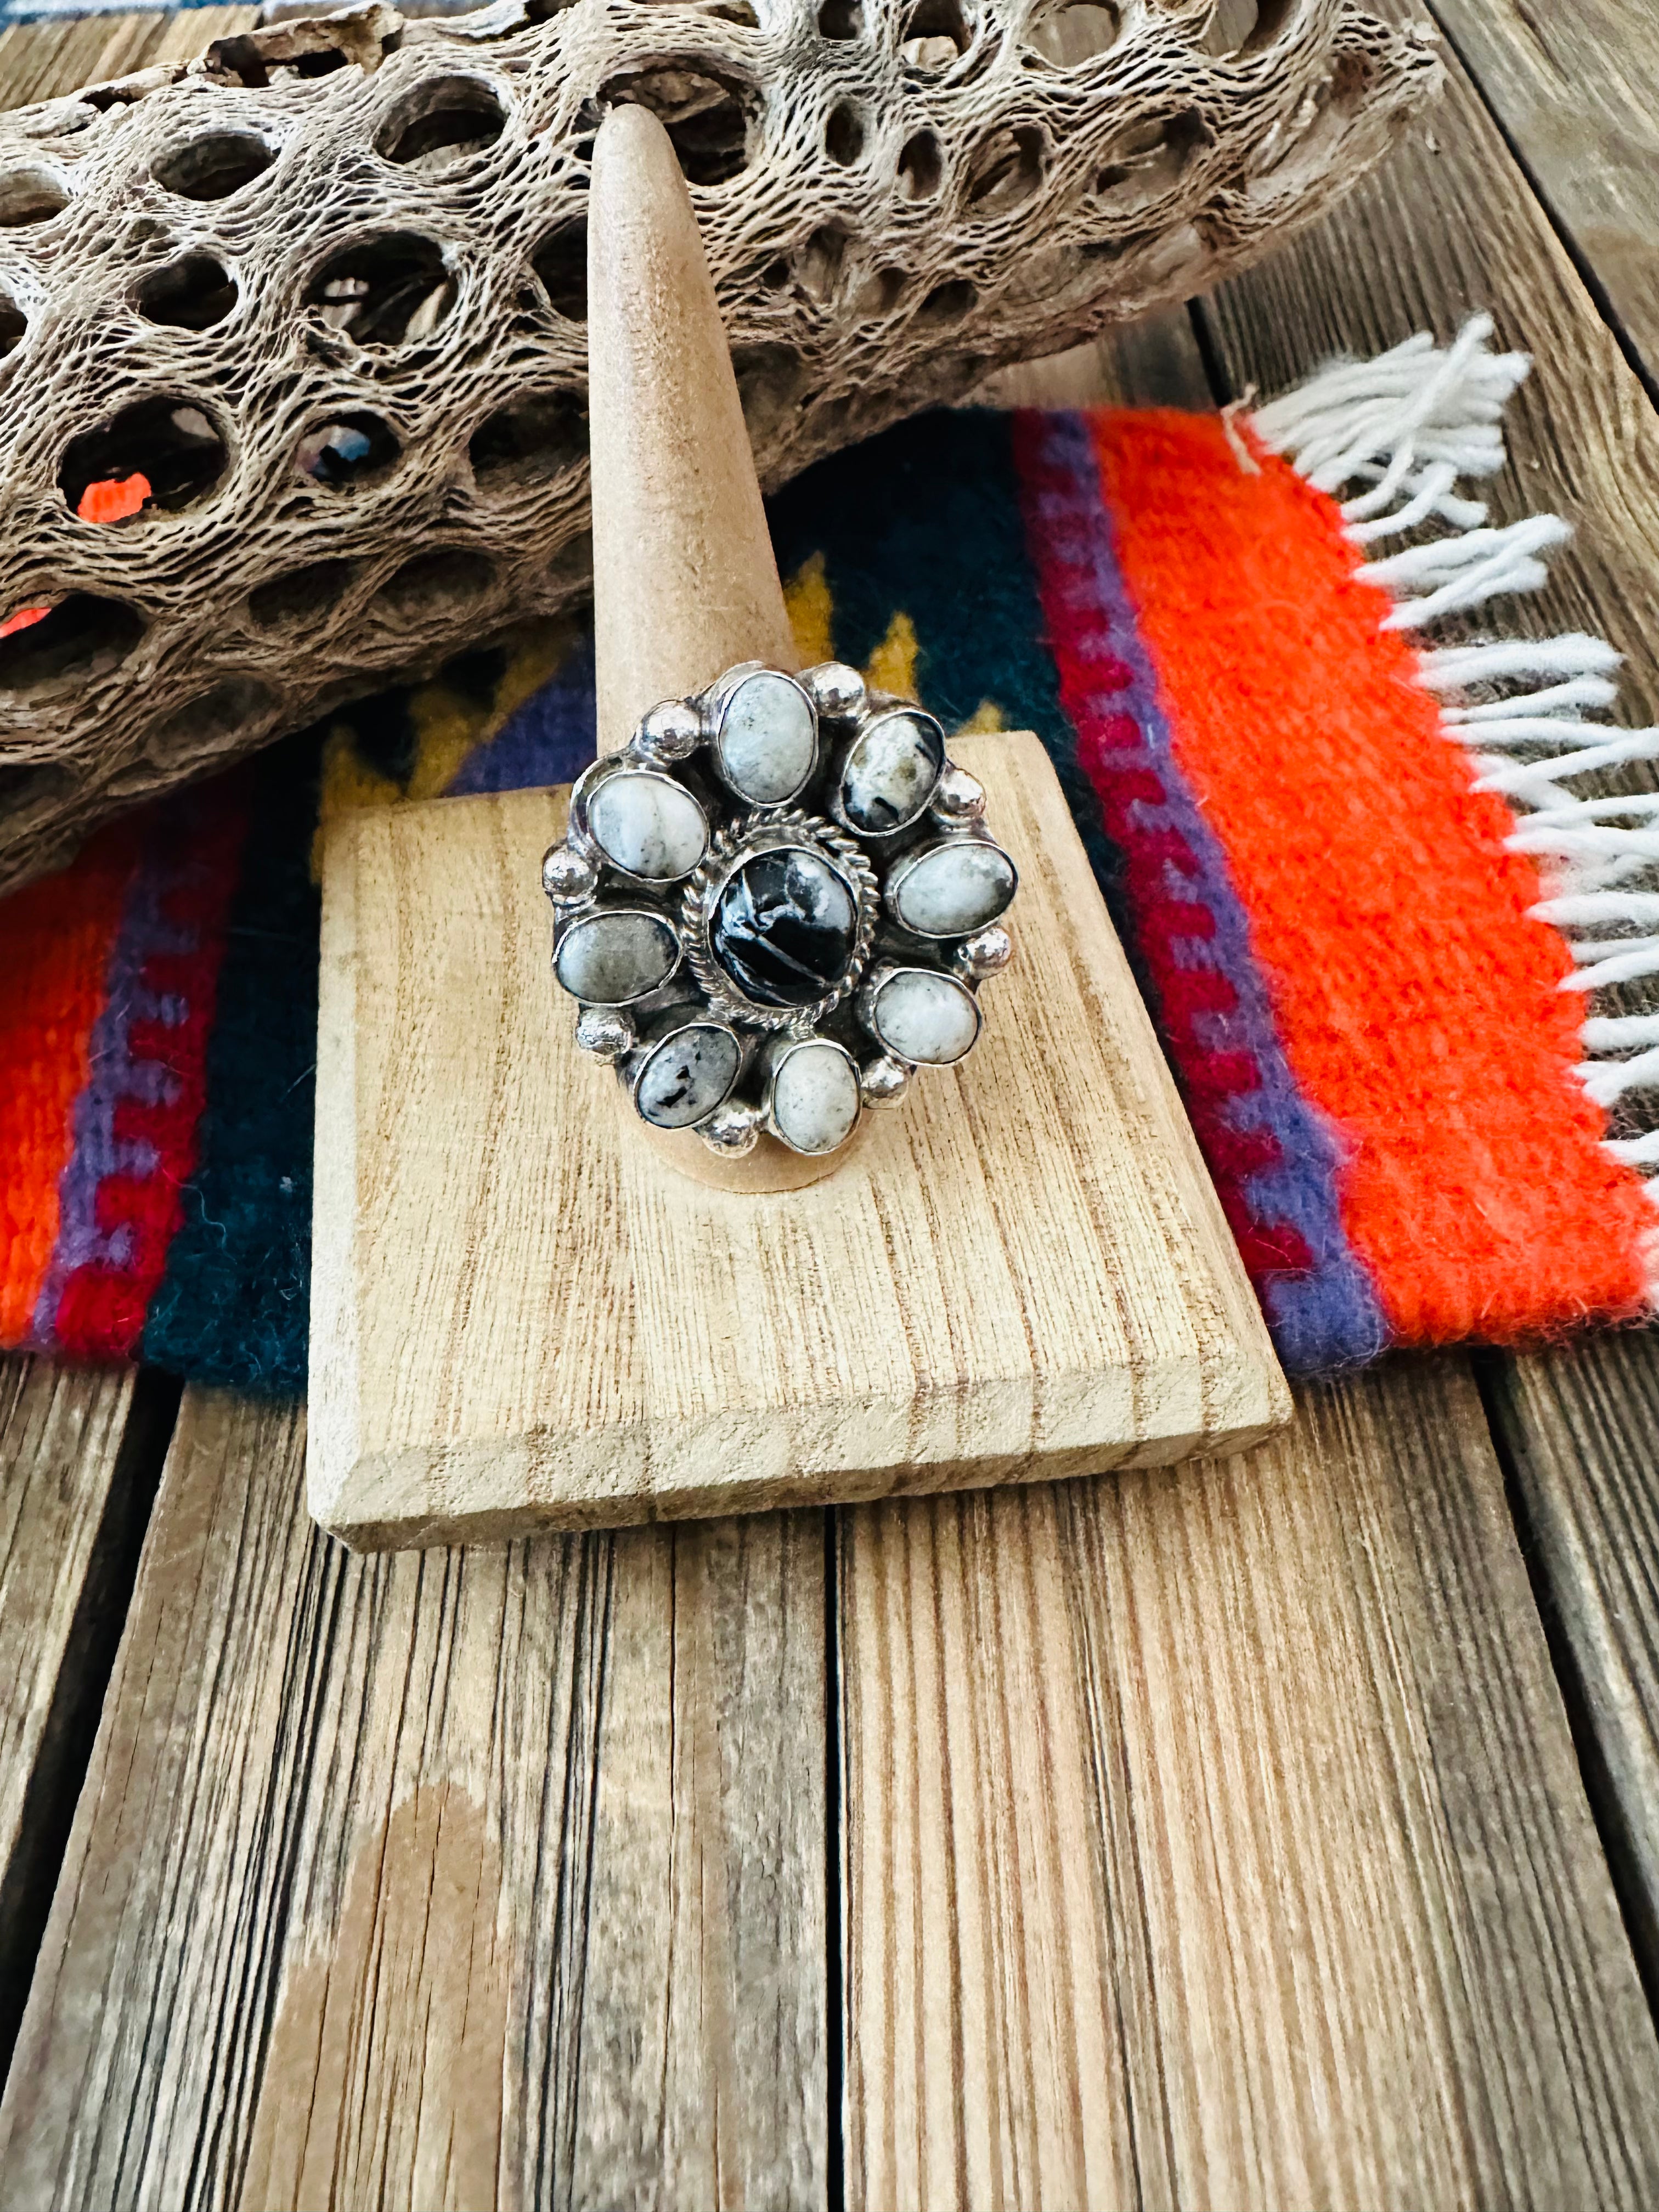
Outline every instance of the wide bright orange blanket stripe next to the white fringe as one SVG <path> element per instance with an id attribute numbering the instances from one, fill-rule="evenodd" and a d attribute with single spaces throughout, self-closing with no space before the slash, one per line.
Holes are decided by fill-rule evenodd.
<path id="1" fill-rule="evenodd" d="M 1407 1343 L 1641 1305 L 1641 1181 L 1573 1077 L 1577 993 L 1336 507 L 1219 422 L 1095 425 L 1179 763 L 1232 860 L 1285 1053 L 1354 1144 L 1343 1212 Z"/>

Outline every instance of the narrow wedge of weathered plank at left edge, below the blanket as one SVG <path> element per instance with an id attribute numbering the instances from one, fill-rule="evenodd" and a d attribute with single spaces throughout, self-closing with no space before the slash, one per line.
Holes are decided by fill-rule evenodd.
<path id="1" fill-rule="evenodd" d="M 0 2073 L 115 1657 L 173 1391 L 0 1358 Z"/>

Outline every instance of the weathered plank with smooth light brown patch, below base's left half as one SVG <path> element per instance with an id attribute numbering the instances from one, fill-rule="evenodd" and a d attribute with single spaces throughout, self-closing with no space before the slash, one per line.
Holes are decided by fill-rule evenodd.
<path id="1" fill-rule="evenodd" d="M 352 1559 L 301 1458 L 186 1394 L 7 2203 L 823 2203 L 823 1517 Z"/>

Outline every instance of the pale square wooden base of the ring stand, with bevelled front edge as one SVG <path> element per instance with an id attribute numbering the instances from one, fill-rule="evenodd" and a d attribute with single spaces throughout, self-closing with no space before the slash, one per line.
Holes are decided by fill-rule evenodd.
<path id="1" fill-rule="evenodd" d="M 1020 1482 L 1254 1442 L 1267 1332 L 1035 737 L 987 1029 L 805 1190 L 677 1175 L 571 1040 L 566 792 L 327 836 L 310 1504 L 361 1548 Z"/>

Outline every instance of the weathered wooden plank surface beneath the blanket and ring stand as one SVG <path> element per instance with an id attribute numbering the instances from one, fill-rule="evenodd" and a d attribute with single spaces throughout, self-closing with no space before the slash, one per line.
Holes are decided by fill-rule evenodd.
<path id="1" fill-rule="evenodd" d="M 1480 91 L 1453 55 L 1442 113 L 1201 347 L 1166 319 L 1024 389 L 1201 405 L 1206 363 L 1274 389 L 1491 305 L 1540 356 L 1495 504 L 1579 524 L 1504 619 L 1613 635 L 1652 717 L 1621 303 L 1659 223 L 1630 188 L 1586 288 L 1480 44 L 1537 75 L 1533 38 L 1597 115 L 1648 82 L 1644 11 L 1436 7 Z M 0 100 L 248 13 L 7 33 Z M 186 1391 L 7 2197 L 1659 2201 L 1657 1356 L 1394 1360 L 1243 1460 L 1128 1480 L 376 1562 L 305 1522 L 296 1416 Z M 124 1380 L 0 1374 L 0 1657 L 38 1650 L 2 1823 L 133 1416 Z"/>

